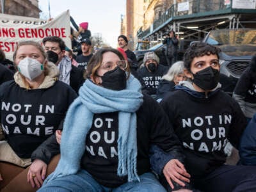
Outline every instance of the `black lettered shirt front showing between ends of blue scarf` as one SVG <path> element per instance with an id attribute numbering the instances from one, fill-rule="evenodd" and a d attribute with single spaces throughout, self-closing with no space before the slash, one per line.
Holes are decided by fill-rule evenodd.
<path id="1" fill-rule="evenodd" d="M 86 152 L 82 166 L 95 180 L 104 186 L 124 183 L 126 177 L 118 177 L 118 112 L 93 116 L 92 128 L 86 136 Z M 100 166 L 99 166 L 100 165 Z M 104 178 L 102 168 L 104 167 Z"/>

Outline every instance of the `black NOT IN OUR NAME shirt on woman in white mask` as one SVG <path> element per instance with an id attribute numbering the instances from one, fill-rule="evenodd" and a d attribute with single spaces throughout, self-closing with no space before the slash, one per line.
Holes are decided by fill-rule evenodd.
<path id="1" fill-rule="evenodd" d="M 76 92 L 61 81 L 50 88 L 33 90 L 20 88 L 14 81 L 1 84 L 1 126 L 17 156 L 29 158 L 54 134 L 76 97 Z"/>

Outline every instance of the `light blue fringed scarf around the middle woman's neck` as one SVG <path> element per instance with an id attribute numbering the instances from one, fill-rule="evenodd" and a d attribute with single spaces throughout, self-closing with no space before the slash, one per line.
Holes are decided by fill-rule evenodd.
<path id="1" fill-rule="evenodd" d="M 75 174 L 80 169 L 85 150 L 86 134 L 92 127 L 94 113 L 118 113 L 118 170 L 128 181 L 139 180 L 136 170 L 137 136 L 136 111 L 143 102 L 139 81 L 130 76 L 125 90 L 113 91 L 86 80 L 79 97 L 70 105 L 63 125 L 61 158 L 49 180 Z"/>

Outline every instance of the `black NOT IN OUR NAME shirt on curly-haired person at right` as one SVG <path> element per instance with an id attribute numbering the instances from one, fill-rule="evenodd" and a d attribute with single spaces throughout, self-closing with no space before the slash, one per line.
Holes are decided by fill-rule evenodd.
<path id="1" fill-rule="evenodd" d="M 246 118 L 237 102 L 218 91 L 209 98 L 197 98 L 184 90 L 169 93 L 161 102 L 174 131 L 182 142 L 186 168 L 195 178 L 226 161 L 224 147 L 237 147 Z"/>

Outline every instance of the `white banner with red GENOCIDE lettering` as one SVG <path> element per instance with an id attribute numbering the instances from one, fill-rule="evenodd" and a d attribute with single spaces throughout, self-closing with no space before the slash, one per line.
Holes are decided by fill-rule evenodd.
<path id="1" fill-rule="evenodd" d="M 16 45 L 25 40 L 40 42 L 45 36 L 59 36 L 71 47 L 69 11 L 51 21 L 33 17 L 0 14 L 0 49 L 12 60 Z"/>

